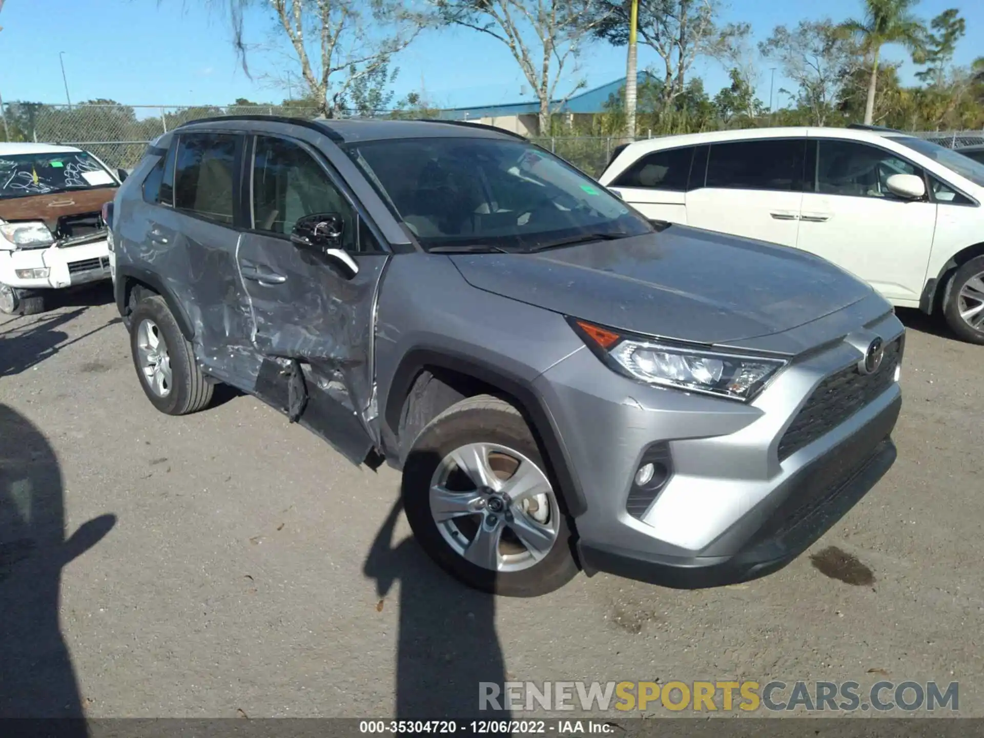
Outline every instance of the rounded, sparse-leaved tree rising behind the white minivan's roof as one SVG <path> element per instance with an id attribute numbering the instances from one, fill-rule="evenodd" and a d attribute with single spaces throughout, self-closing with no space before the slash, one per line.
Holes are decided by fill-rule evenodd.
<path id="1" fill-rule="evenodd" d="M 796 83 L 796 100 L 809 109 L 811 123 L 817 126 L 826 125 L 861 54 L 853 39 L 830 20 L 800 21 L 792 30 L 776 26 L 759 50 Z"/>

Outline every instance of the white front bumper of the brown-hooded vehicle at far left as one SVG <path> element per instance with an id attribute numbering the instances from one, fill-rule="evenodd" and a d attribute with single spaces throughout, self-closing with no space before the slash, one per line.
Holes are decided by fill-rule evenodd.
<path id="1" fill-rule="evenodd" d="M 18 277 L 18 270 L 47 269 L 47 277 Z M 76 246 L 0 251 L 0 282 L 20 289 L 60 289 L 110 278 L 105 239 Z"/>

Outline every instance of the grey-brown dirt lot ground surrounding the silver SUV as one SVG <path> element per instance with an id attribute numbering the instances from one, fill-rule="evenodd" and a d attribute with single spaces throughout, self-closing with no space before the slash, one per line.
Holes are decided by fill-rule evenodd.
<path id="1" fill-rule="evenodd" d="M 395 471 L 248 397 L 158 414 L 109 289 L 64 302 L 0 322 L 0 461 L 32 479 L 0 487 L 0 714 L 435 717 L 473 713 L 479 681 L 910 679 L 984 715 L 984 347 L 917 315 L 898 461 L 808 555 L 715 590 L 599 575 L 495 600 L 407 537 Z"/>

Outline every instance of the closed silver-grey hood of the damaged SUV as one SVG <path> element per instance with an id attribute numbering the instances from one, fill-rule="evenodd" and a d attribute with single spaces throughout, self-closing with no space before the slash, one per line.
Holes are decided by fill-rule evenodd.
<path id="1" fill-rule="evenodd" d="M 683 225 L 539 254 L 452 260 L 479 289 L 627 332 L 700 343 L 788 331 L 872 293 L 819 257 Z"/>

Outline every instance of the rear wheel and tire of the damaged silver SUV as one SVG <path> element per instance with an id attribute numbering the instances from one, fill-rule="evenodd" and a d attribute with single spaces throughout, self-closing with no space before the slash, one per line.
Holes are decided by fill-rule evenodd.
<path id="1" fill-rule="evenodd" d="M 154 407 L 167 415 L 187 415 L 208 406 L 213 385 L 205 380 L 164 299 L 144 297 L 130 318 L 134 366 Z"/>

